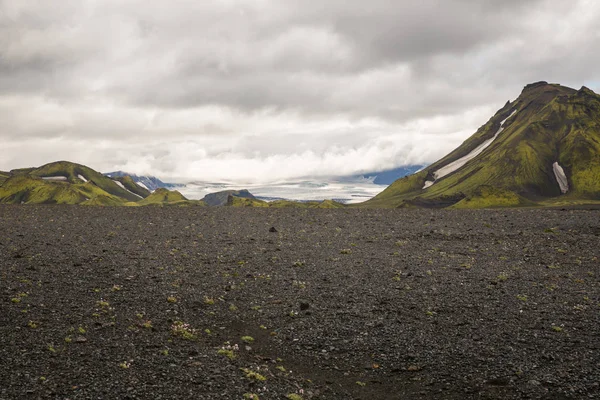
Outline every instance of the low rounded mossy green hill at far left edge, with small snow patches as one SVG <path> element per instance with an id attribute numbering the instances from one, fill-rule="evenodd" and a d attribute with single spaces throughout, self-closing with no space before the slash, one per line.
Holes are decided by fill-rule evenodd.
<path id="1" fill-rule="evenodd" d="M 0 203 L 140 205 L 150 192 L 127 177 L 113 180 L 85 165 L 58 161 L 2 173 Z"/>

